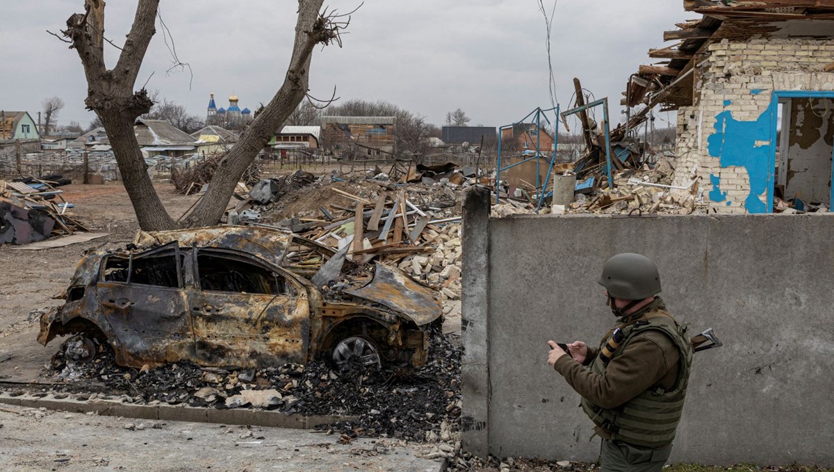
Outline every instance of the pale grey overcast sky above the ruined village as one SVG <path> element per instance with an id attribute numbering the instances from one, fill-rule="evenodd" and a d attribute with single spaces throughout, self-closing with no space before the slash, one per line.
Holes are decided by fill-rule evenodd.
<path id="1" fill-rule="evenodd" d="M 554 0 L 543 0 L 550 9 Z M 136 7 L 109 0 L 105 36 L 123 42 Z M 357 0 L 325 2 L 347 12 Z M 205 117 L 208 93 L 228 107 L 232 92 L 240 107 L 269 102 L 284 80 L 292 48 L 293 0 L 163 0 L 163 20 L 173 34 L 188 72 L 166 75 L 171 65 L 161 28 L 153 37 L 138 87 Z M 573 94 L 573 77 L 595 97 L 609 97 L 612 119 L 620 121 L 620 92 L 632 72 L 650 63 L 646 52 L 663 46 L 665 30 L 694 15 L 681 0 L 559 0 L 555 7 L 551 57 L 556 98 L 563 110 Z M 48 35 L 58 32 L 83 0 L 3 2 L 0 30 L 0 108 L 26 110 L 37 121 L 46 97 L 62 97 L 58 124 L 93 119 L 84 109 L 83 68 L 74 50 Z M 105 45 L 108 66 L 118 49 Z M 385 100 L 442 124 L 446 112 L 463 109 L 470 125 L 517 122 L 535 107 L 549 107 L 545 20 L 538 0 L 366 0 L 354 13 L 344 47 L 317 48 L 310 92 L 343 99 Z M 666 119 L 667 115 L 661 115 Z M 658 127 L 666 126 L 657 123 Z"/>

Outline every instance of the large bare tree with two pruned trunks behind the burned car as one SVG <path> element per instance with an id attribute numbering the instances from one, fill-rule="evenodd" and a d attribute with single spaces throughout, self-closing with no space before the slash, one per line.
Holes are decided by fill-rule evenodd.
<path id="1" fill-rule="evenodd" d="M 307 94 L 314 47 L 332 42 L 341 46 L 339 31 L 349 24 L 349 16 L 327 10 L 320 12 L 323 1 L 299 0 L 293 52 L 284 83 L 220 161 L 208 191 L 184 218 L 184 226 L 207 226 L 220 220 L 244 171 Z M 143 87 L 134 92 L 133 87 L 148 43 L 156 32 L 159 0 L 138 0 L 133 25 L 121 47 L 104 37 L 103 0 L 84 0 L 84 7 L 84 13 L 69 17 L 63 35 L 78 52 L 84 67 L 88 84 L 85 103 L 88 109 L 96 112 L 107 130 L 139 226 L 146 231 L 177 228 L 180 225 L 165 211 L 153 188 L 133 134 L 135 119 L 153 107 L 148 91 Z M 160 23 L 167 31 L 161 19 Z M 113 69 L 105 66 L 104 42 L 121 50 Z"/>

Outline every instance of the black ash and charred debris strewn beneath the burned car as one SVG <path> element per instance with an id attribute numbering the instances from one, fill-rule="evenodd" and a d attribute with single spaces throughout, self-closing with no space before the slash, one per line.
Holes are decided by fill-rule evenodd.
<path id="1" fill-rule="evenodd" d="M 79 346 L 69 347 L 72 355 Z M 359 365 L 340 372 L 324 360 L 314 360 L 260 370 L 206 368 L 190 362 L 138 370 L 116 365 L 107 345 L 97 345 L 96 350 L 96 359 L 88 363 L 68 359 L 59 350 L 44 375 L 66 382 L 55 390 L 80 393 L 82 398 L 95 392 L 97 397 L 149 405 L 252 408 L 240 394 L 261 390 L 266 395 L 257 407 L 264 410 L 352 417 L 317 428 L 348 438 L 460 439 L 461 348 L 439 329 L 432 332 L 429 360 L 420 368 L 369 370 Z"/>

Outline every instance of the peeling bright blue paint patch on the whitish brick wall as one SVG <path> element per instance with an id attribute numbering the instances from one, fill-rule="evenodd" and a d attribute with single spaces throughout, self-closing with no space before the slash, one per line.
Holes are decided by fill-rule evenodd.
<path id="1" fill-rule="evenodd" d="M 732 117 L 729 110 L 716 115 L 716 133 L 707 138 L 707 152 L 711 157 L 719 158 L 721 167 L 742 166 L 750 180 L 750 193 L 744 201 L 748 213 L 764 213 L 767 205 L 760 196 L 767 191 L 767 167 L 770 161 L 770 145 L 756 146 L 757 141 L 770 142 L 771 113 L 774 107 L 768 107 L 754 122 L 740 122 Z M 712 185 L 721 183 L 721 179 L 710 178 Z M 710 192 L 710 199 L 713 192 Z M 721 196 L 718 191 L 716 196 Z"/>

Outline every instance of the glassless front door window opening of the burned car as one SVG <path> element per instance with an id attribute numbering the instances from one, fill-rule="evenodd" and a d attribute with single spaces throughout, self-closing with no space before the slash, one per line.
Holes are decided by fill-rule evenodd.
<path id="1" fill-rule="evenodd" d="M 239 291 L 264 295 L 287 292 L 283 277 L 238 258 L 200 251 L 197 266 L 200 288 L 204 291 Z"/>

